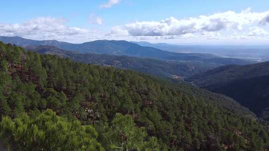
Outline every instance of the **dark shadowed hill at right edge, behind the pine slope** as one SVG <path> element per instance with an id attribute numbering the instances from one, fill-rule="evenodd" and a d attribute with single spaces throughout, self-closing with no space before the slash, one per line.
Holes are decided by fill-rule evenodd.
<path id="1" fill-rule="evenodd" d="M 269 107 L 269 62 L 223 66 L 187 80 L 230 96 L 257 114 Z"/>

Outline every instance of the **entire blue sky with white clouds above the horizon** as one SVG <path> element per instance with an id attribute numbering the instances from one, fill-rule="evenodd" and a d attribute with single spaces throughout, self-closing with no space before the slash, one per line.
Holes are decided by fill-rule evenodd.
<path id="1" fill-rule="evenodd" d="M 269 45 L 268 0 L 3 0 L 0 36 Z"/>

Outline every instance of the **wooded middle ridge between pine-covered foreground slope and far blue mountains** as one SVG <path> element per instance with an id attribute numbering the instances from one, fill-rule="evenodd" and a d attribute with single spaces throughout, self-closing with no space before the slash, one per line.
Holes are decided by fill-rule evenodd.
<path id="1" fill-rule="evenodd" d="M 54 46 L 26 46 L 25 49 L 35 51 L 40 54 L 50 54 L 59 57 L 71 58 L 77 62 L 116 67 L 120 69 L 130 69 L 146 74 L 174 79 L 183 79 L 190 75 L 220 66 L 218 64 L 201 62 L 161 61 L 155 59 L 94 53 L 80 54 L 74 51 L 65 51 Z"/>

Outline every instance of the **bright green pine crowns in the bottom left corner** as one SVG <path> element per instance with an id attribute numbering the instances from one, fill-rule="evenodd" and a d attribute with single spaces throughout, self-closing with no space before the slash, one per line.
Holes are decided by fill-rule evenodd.
<path id="1" fill-rule="evenodd" d="M 26 114 L 13 120 L 4 117 L 0 126 L 9 149 L 15 151 L 103 151 L 92 126 L 68 122 L 52 110 L 34 118 Z"/>

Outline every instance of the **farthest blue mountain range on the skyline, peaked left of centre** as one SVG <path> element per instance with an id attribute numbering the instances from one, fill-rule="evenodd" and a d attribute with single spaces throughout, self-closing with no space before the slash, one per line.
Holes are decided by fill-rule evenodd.
<path id="1" fill-rule="evenodd" d="M 4 43 L 12 43 L 19 46 L 51 45 L 58 47 L 60 49 L 69 51 L 79 51 L 81 53 L 125 55 L 140 58 L 160 59 L 160 60 L 200 61 L 217 64 L 221 62 L 221 65 L 229 65 L 229 64 L 246 65 L 254 63 L 248 60 L 221 58 L 211 54 L 174 53 L 152 47 L 140 46 L 138 44 L 134 44 L 128 41 L 97 40 L 82 44 L 71 44 L 66 42 L 59 42 L 56 40 L 37 41 L 37 40 L 24 39 L 21 37 L 4 37 L 4 36 L 0 36 L 0 41 L 3 41 Z"/>

